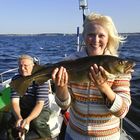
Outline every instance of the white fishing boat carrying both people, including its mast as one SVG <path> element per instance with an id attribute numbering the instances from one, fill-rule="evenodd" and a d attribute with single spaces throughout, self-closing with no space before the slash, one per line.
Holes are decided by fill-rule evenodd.
<path id="1" fill-rule="evenodd" d="M 87 8 L 87 1 L 86 0 L 79 0 L 79 7 L 83 11 L 83 20 L 85 18 L 85 9 Z M 79 27 L 77 27 L 77 51 L 80 51 L 82 46 L 82 43 L 80 44 L 79 41 Z M 9 83 L 11 82 L 11 77 L 13 77 L 16 73 L 18 73 L 18 68 L 10 69 L 7 71 L 4 71 L 0 73 L 0 140 L 4 140 L 4 137 L 6 137 L 5 133 L 3 133 L 3 126 L 6 125 L 9 119 L 9 113 L 11 111 L 11 102 L 10 102 L 10 95 L 11 95 L 11 88 Z M 50 82 L 51 83 L 51 82 Z M 51 91 L 52 92 L 52 91 Z M 54 114 L 51 116 L 51 119 L 49 120 L 49 125 L 52 131 L 52 137 L 55 137 L 59 135 L 63 125 L 63 116 L 60 112 L 60 108 L 57 106 L 57 104 L 54 101 L 53 94 L 50 97 L 51 101 L 51 108 L 54 110 Z M 54 117 L 57 116 L 57 117 Z M 59 123 L 54 123 L 59 122 Z M 130 129 L 127 129 L 129 126 Z M 124 119 L 121 119 L 121 138 L 120 140 L 136 140 L 138 137 L 135 137 L 135 134 L 133 132 L 140 133 L 140 128 L 134 124 L 131 120 L 129 120 L 127 117 Z M 32 137 L 36 134 L 30 134 L 28 136 L 28 139 L 31 140 Z M 6 139 L 5 139 L 6 140 Z M 61 139 L 60 139 L 61 140 Z"/>

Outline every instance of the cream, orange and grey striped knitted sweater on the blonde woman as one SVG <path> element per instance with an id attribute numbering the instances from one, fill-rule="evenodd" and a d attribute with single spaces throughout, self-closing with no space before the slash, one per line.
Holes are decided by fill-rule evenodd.
<path id="1" fill-rule="evenodd" d="M 72 58 L 86 56 L 84 54 L 77 53 Z M 113 104 L 108 104 L 92 82 L 70 81 L 70 121 L 66 133 L 72 140 L 119 140 L 120 118 L 125 117 L 131 104 L 130 79 L 130 74 L 108 75 L 108 85 L 116 93 Z"/>

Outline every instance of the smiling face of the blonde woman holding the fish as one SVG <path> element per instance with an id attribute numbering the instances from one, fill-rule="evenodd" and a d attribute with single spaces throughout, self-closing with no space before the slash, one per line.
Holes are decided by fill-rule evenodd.
<path id="1" fill-rule="evenodd" d="M 84 34 L 87 54 L 89 56 L 102 55 L 107 46 L 108 38 L 108 32 L 103 26 L 89 23 Z"/>

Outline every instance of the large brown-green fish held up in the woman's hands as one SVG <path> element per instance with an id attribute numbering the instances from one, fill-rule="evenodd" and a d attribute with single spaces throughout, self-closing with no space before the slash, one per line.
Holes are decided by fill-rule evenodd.
<path id="1" fill-rule="evenodd" d="M 75 60 L 64 60 L 54 64 L 36 64 L 32 74 L 26 77 L 19 77 L 10 82 L 10 87 L 19 95 L 24 95 L 27 88 L 35 81 L 41 85 L 51 79 L 55 68 L 65 67 L 68 73 L 68 80 L 75 82 L 88 82 L 89 70 L 93 64 L 102 66 L 108 73 L 118 75 L 130 73 L 135 62 L 111 55 L 96 55 L 78 58 Z"/>

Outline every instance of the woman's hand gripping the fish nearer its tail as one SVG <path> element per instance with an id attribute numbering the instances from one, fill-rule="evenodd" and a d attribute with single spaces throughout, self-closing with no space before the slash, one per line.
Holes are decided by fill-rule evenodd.
<path id="1" fill-rule="evenodd" d="M 58 87 L 64 87 L 68 83 L 68 73 L 64 67 L 56 68 L 52 73 L 52 80 Z"/>

